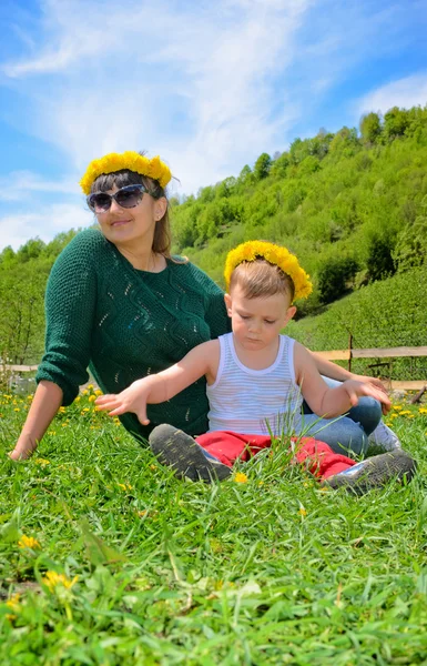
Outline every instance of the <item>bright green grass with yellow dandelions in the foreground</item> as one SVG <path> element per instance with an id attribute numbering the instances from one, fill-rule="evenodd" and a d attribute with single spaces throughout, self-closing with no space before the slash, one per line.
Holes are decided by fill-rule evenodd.
<path id="1" fill-rule="evenodd" d="M 417 478 L 357 498 L 279 445 L 176 481 L 93 400 L 16 464 L 0 397 L 2 666 L 427 663 L 426 406 L 389 417 Z"/>

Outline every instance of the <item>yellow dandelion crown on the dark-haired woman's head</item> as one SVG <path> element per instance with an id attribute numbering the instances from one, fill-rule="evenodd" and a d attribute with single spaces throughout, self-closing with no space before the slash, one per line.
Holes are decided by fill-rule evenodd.
<path id="1" fill-rule="evenodd" d="M 79 184 L 84 194 L 90 194 L 92 183 L 99 175 L 114 173 L 121 169 L 148 175 L 159 181 L 162 188 L 165 188 L 172 178 L 170 168 L 159 155 L 150 160 L 134 150 L 126 150 L 124 153 L 109 153 L 99 160 L 92 160 Z"/>

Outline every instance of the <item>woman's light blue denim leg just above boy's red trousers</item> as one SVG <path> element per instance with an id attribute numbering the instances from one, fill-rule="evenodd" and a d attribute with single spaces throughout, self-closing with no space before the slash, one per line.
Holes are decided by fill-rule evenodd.
<path id="1" fill-rule="evenodd" d="M 368 447 L 368 438 L 362 425 L 347 416 L 321 418 L 315 414 L 303 414 L 298 434 L 321 440 L 335 453 L 343 455 L 349 451 L 358 455 L 365 453 Z"/>

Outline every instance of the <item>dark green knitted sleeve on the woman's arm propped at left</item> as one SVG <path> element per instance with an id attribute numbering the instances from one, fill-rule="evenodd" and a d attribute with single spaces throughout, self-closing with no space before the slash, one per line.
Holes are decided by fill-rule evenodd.
<path id="1" fill-rule="evenodd" d="M 45 293 L 45 352 L 37 381 L 48 380 L 63 392 L 69 405 L 88 381 L 96 303 L 95 256 L 102 236 L 83 231 L 53 264 Z"/>

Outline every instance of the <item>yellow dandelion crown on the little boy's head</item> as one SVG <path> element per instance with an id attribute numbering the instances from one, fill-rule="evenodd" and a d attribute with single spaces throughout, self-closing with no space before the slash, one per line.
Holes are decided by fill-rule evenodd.
<path id="1" fill-rule="evenodd" d="M 296 256 L 291 254 L 286 248 L 265 241 L 248 241 L 228 252 L 224 270 L 226 289 L 228 290 L 232 273 L 238 264 L 244 261 L 255 261 L 260 258 L 278 266 L 286 275 L 289 275 L 295 286 L 294 300 L 309 296 L 313 291 L 309 275 L 301 268 Z"/>

